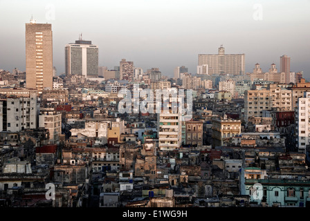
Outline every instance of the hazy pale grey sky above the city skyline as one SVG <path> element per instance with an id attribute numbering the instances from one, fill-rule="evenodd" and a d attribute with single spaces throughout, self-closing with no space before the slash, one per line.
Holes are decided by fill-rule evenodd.
<path id="1" fill-rule="evenodd" d="M 176 66 L 196 73 L 198 54 L 246 54 L 255 64 L 310 78 L 310 0 L 0 0 L 0 68 L 25 70 L 25 23 L 52 23 L 53 65 L 64 73 L 64 46 L 78 39 L 99 46 L 99 66 L 119 66 L 122 58 L 147 70 L 173 76 Z"/>

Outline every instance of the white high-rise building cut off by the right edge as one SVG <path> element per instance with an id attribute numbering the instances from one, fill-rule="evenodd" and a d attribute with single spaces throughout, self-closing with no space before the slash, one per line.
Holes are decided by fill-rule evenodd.
<path id="1" fill-rule="evenodd" d="M 310 144 L 310 92 L 304 92 L 304 97 L 298 98 L 298 106 L 296 108 L 296 120 L 298 128 L 298 136 L 296 137 L 298 141 L 298 151 L 306 153 L 306 147 Z"/>

